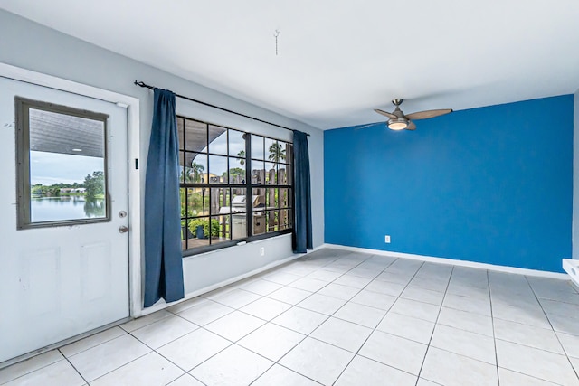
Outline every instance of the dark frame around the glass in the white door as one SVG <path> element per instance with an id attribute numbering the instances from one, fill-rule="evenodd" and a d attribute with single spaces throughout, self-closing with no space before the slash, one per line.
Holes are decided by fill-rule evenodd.
<path id="1" fill-rule="evenodd" d="M 56 221 L 36 221 L 31 219 L 31 182 L 30 182 L 30 109 L 43 110 L 62 115 L 69 115 L 78 118 L 97 120 L 103 124 L 103 174 L 104 174 L 104 200 L 105 213 L 103 217 L 76 219 L 76 220 L 56 220 Z M 109 197 L 109 116 L 103 113 L 71 108 L 69 106 L 58 105 L 42 100 L 14 97 L 15 126 L 16 126 L 16 229 L 28 230 L 38 228 L 52 228 L 71 225 L 84 225 L 98 222 L 110 221 L 110 197 Z"/>

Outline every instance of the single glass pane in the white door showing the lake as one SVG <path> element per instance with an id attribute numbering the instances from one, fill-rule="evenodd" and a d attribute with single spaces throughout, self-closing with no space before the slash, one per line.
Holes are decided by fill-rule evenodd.
<path id="1" fill-rule="evenodd" d="M 28 118 L 30 218 L 24 223 L 107 218 L 106 117 L 31 107 Z"/>

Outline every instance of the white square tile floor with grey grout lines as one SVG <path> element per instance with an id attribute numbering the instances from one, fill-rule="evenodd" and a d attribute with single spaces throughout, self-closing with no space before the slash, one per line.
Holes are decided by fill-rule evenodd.
<path id="1" fill-rule="evenodd" d="M 6 385 L 579 385 L 567 281 L 338 249 L 0 371 Z"/>

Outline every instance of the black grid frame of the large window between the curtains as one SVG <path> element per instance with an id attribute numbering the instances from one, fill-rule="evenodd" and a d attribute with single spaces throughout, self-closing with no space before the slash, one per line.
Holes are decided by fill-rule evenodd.
<path id="1" fill-rule="evenodd" d="M 267 163 L 270 162 L 274 165 L 289 165 L 290 170 L 291 170 L 291 175 L 288 177 L 289 178 L 289 183 L 290 184 L 280 184 L 280 181 L 277 180 L 276 178 L 276 184 L 253 184 L 252 183 L 252 161 L 254 161 L 254 159 L 252 159 L 252 136 L 259 136 L 259 137 L 263 137 L 265 139 L 271 139 L 273 141 L 277 141 L 280 143 L 284 143 L 284 144 L 289 144 L 290 146 L 293 146 L 293 144 L 290 141 L 287 140 L 283 140 L 283 139 L 279 139 L 279 138 L 275 138 L 275 137 L 269 137 L 266 135 L 261 135 L 261 134 L 257 134 L 257 133 L 252 133 L 249 131 L 244 131 L 240 128 L 237 127 L 228 127 L 228 126 L 224 126 L 224 125 L 218 125 L 218 124 L 214 124 L 211 122 L 207 122 L 207 121 L 203 121 L 200 119 L 196 119 L 196 118 L 189 118 L 186 117 L 185 115 L 181 115 L 181 114 L 176 114 L 176 120 L 182 120 L 183 122 L 183 137 L 180 137 L 179 140 L 179 146 L 178 146 L 178 152 L 179 152 L 179 156 L 183 156 L 183 164 L 184 165 L 179 165 L 179 171 L 180 173 L 183 173 L 183 181 L 179 181 L 179 190 L 185 190 L 185 216 L 184 217 L 180 217 L 181 221 L 185 221 L 185 232 L 188 234 L 187 228 L 188 228 L 188 223 L 191 220 L 194 219 L 208 219 L 209 220 L 209 224 L 211 227 L 211 221 L 212 219 L 216 219 L 218 218 L 220 215 L 219 214 L 212 214 L 211 213 L 211 189 L 230 189 L 230 192 L 233 191 L 233 189 L 244 189 L 245 190 L 245 237 L 239 238 L 239 239 L 233 239 L 233 212 L 230 211 L 228 213 L 230 217 L 230 231 L 229 231 L 229 240 L 224 240 L 224 241 L 218 241 L 216 243 L 213 243 L 213 238 L 211 237 L 211 235 L 209 235 L 209 244 L 205 245 L 205 246 L 199 246 L 199 247 L 193 247 L 193 248 L 188 248 L 188 237 L 185 236 L 185 238 L 182 236 L 182 243 L 185 242 L 184 246 L 182 244 L 182 253 L 183 253 L 183 257 L 190 257 L 190 256 L 195 256 L 198 254 L 202 254 L 208 251 L 212 251 L 212 250 L 216 250 L 216 249 L 224 249 L 224 248 L 229 248 L 229 247 L 233 247 L 235 245 L 238 245 L 240 243 L 244 243 L 244 242 L 251 242 L 251 241 L 256 241 L 256 240 L 264 240 L 264 239 L 270 239 L 272 237 L 277 237 L 283 234 L 289 234 L 293 231 L 293 227 L 294 227 L 294 176 L 293 176 L 293 170 L 294 170 L 294 160 L 293 160 L 293 155 L 291 155 L 290 158 L 290 162 L 275 162 L 275 161 L 268 161 L 267 159 L 267 155 L 264 154 L 263 155 L 263 162 Z M 185 137 L 186 137 L 186 121 L 194 121 L 195 124 L 197 125 L 203 125 L 204 129 L 206 130 L 207 133 L 207 148 L 206 148 L 206 152 L 202 152 L 202 151 L 195 151 L 195 150 L 187 150 L 186 149 L 186 142 L 185 142 Z M 217 154 L 217 153 L 212 153 L 211 152 L 211 146 L 210 146 L 210 142 L 209 142 L 209 130 L 210 127 L 220 127 L 226 130 L 227 132 L 227 155 L 223 155 L 223 154 Z M 237 155 L 232 155 L 229 154 L 230 151 L 230 141 L 229 141 L 229 137 L 230 137 L 230 131 L 229 130 L 234 130 L 237 132 L 241 132 L 242 135 L 246 136 L 245 138 L 245 162 L 244 162 L 244 171 L 245 171 L 245 175 L 244 175 L 244 184 L 233 184 L 231 183 L 230 180 L 230 175 L 229 175 L 229 171 L 232 169 L 232 165 L 229 164 L 230 160 L 232 158 L 239 158 Z M 264 145 L 265 146 L 265 145 Z M 291 147 L 293 148 L 293 147 Z M 267 149 L 264 149 L 267 150 Z M 185 167 L 186 167 L 186 154 L 187 153 L 197 153 L 200 155 L 205 155 L 207 156 L 207 181 L 204 182 L 202 179 L 201 183 L 195 183 L 195 182 L 186 182 L 185 179 Z M 212 155 L 218 155 L 218 156 L 224 156 L 227 158 L 227 181 L 224 184 L 214 184 L 210 182 L 210 178 L 209 178 L 209 171 L 211 170 L 211 156 Z M 242 159 L 242 158 L 240 158 Z M 286 158 L 287 161 L 287 158 Z M 276 175 L 279 175 L 278 173 L 279 168 L 276 168 Z M 268 227 L 266 225 L 265 227 L 265 231 L 263 233 L 260 234 L 253 234 L 253 213 L 254 212 L 260 212 L 260 211 L 254 211 L 253 209 L 253 199 L 254 199 L 254 195 L 253 195 L 253 190 L 254 189 L 269 189 L 269 188 L 273 188 L 273 189 L 277 189 L 278 192 L 280 192 L 281 189 L 288 189 L 288 192 L 291 192 L 289 194 L 288 197 L 288 207 L 283 207 L 280 208 L 278 206 L 277 210 L 270 210 L 270 211 L 277 211 L 278 213 L 280 213 L 282 210 L 288 211 L 289 212 L 289 224 L 288 224 L 288 228 L 284 229 L 284 230 L 278 230 L 278 231 L 267 231 Z M 202 216 L 189 216 L 188 215 L 188 199 L 187 199 L 187 194 L 188 194 L 188 190 L 189 189 L 207 189 L 209 191 L 209 214 L 207 215 L 202 215 Z M 279 194 L 279 193 L 278 193 Z M 180 194 L 181 197 L 181 194 Z M 230 193 L 230 208 L 231 208 L 231 200 L 233 199 L 233 193 Z M 179 198 L 179 201 L 181 201 L 181 198 Z M 182 202 L 179 202 L 179 204 L 181 205 Z M 267 215 L 268 210 L 267 207 L 263 209 L 264 212 L 264 216 Z M 279 227 L 279 224 L 278 224 Z"/>

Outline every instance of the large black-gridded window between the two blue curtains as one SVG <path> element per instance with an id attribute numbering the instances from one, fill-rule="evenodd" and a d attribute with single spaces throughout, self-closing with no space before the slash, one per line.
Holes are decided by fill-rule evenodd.
<path id="1" fill-rule="evenodd" d="M 291 231 L 292 146 L 177 117 L 184 255 Z"/>

